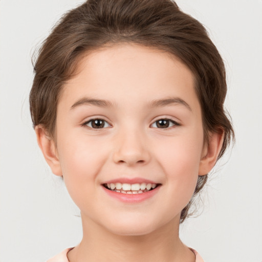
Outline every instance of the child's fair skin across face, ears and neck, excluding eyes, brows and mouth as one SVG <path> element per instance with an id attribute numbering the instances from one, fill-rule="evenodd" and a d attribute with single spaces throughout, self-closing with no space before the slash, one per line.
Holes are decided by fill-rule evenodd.
<path id="1" fill-rule="evenodd" d="M 84 97 L 112 107 L 72 106 Z M 148 108 L 155 99 L 179 98 Z M 170 118 L 165 128 L 157 120 Z M 93 128 L 90 119 L 103 119 Z M 94 122 L 93 122 L 94 123 Z M 159 122 L 158 122 L 159 123 Z M 38 144 L 52 171 L 63 176 L 81 210 L 83 239 L 68 253 L 76 261 L 194 261 L 180 241 L 180 212 L 198 176 L 207 174 L 220 152 L 223 134 L 203 139 L 201 106 L 192 72 L 160 50 L 121 44 L 93 51 L 79 61 L 57 105 L 56 141 L 36 127 Z M 56 142 L 56 143 L 55 143 Z M 108 197 L 102 185 L 121 177 L 161 184 L 141 203 Z"/>

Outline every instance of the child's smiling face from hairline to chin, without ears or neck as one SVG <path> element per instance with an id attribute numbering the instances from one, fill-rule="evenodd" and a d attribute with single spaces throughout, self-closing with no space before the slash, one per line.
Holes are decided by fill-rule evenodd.
<path id="1" fill-rule="evenodd" d="M 191 71 L 166 53 L 125 44 L 86 56 L 79 72 L 58 103 L 52 169 L 62 174 L 82 220 L 124 235 L 178 225 L 203 165 L 201 107 Z M 166 99 L 175 100 L 150 106 Z M 103 121 L 84 125 L 91 119 Z M 103 186 L 123 179 L 160 186 L 141 196 Z"/>

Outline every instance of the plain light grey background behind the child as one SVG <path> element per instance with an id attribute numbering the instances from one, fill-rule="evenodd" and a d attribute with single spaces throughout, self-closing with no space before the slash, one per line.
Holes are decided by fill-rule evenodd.
<path id="1" fill-rule="evenodd" d="M 38 149 L 28 105 L 36 45 L 80 3 L 0 0 L 1 262 L 43 261 L 81 239 L 78 209 Z M 202 214 L 185 222 L 181 237 L 206 262 L 261 262 L 262 1 L 177 3 L 207 27 L 225 59 L 236 133 L 203 194 Z"/>

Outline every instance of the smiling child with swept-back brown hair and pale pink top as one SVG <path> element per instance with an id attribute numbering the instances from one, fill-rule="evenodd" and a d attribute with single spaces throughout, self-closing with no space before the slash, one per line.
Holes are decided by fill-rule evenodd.
<path id="1" fill-rule="evenodd" d="M 48 262 L 203 261 L 179 225 L 234 135 L 204 27 L 171 0 L 88 0 L 62 17 L 34 70 L 38 145 L 83 228 Z"/>

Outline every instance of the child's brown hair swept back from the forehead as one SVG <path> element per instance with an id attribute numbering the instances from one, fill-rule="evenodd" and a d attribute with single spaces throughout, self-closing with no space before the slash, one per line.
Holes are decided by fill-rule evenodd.
<path id="1" fill-rule="evenodd" d="M 65 14 L 43 42 L 34 65 L 30 93 L 34 127 L 42 124 L 54 139 L 59 94 L 75 73 L 79 59 L 86 52 L 121 42 L 158 48 L 187 65 L 195 77 L 205 142 L 208 131 L 224 130 L 221 158 L 234 138 L 224 109 L 224 62 L 204 26 L 172 0 L 88 0 Z M 181 212 L 181 223 L 206 181 L 207 176 L 199 176 L 193 197 Z"/>

